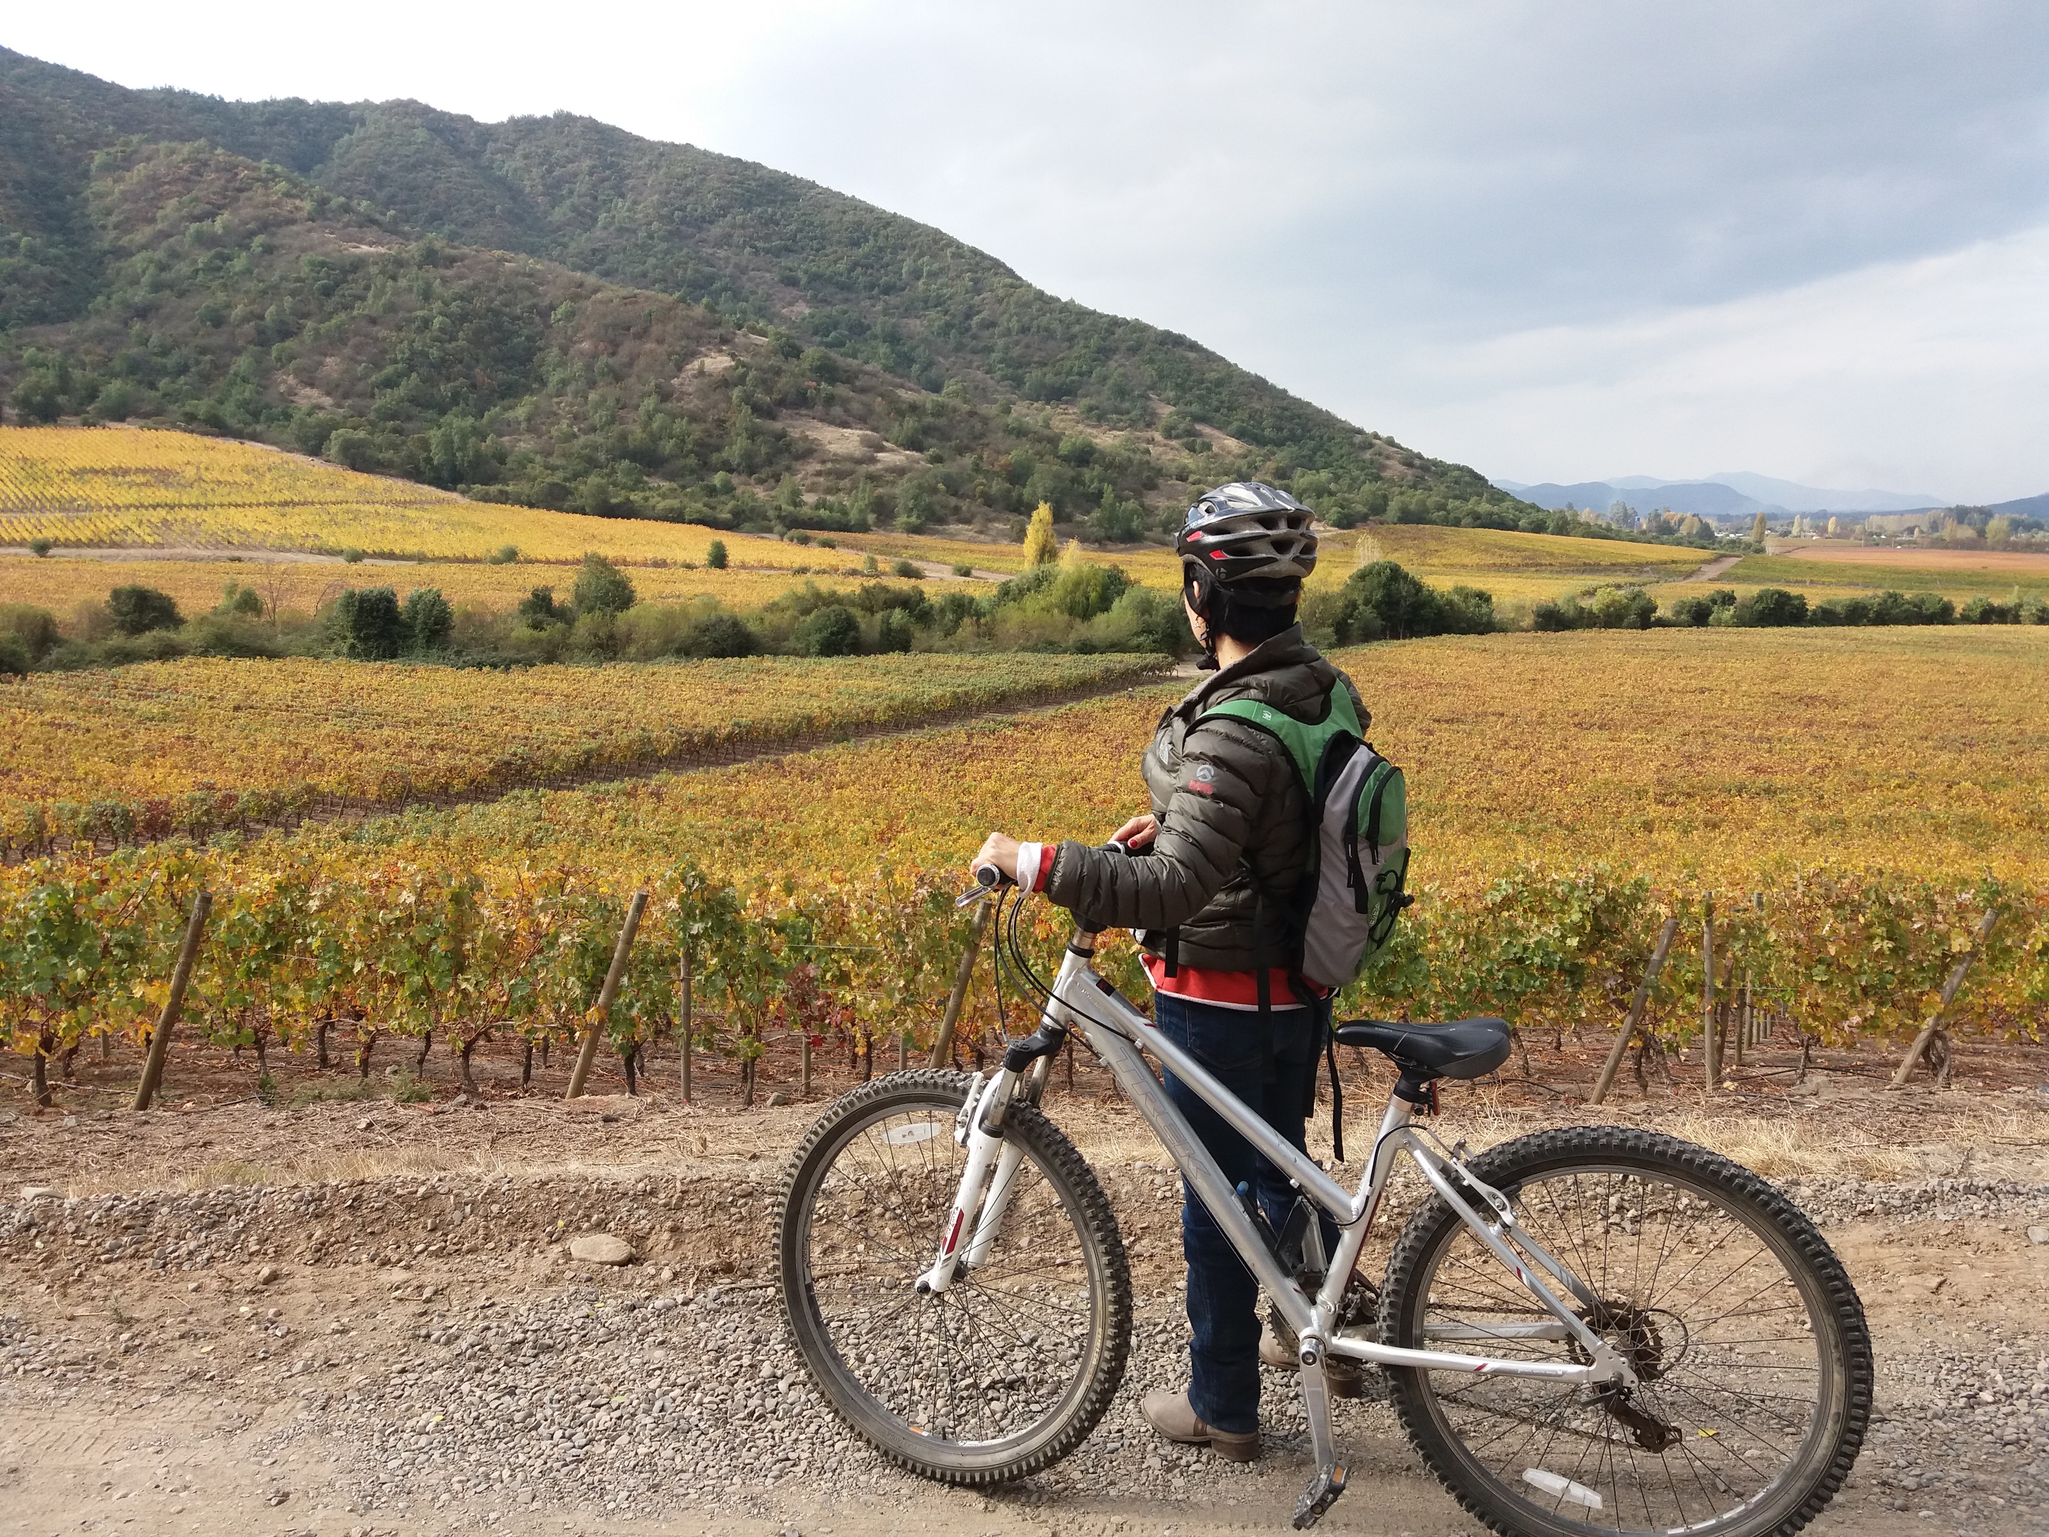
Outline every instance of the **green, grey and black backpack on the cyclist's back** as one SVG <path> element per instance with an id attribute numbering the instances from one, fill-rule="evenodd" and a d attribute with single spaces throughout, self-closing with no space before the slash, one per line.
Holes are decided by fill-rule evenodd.
<path id="1" fill-rule="evenodd" d="M 1309 871 L 1297 889 L 1301 975 L 1342 988 L 1387 945 L 1408 881 L 1408 791 L 1402 771 L 1358 730 L 1352 695 L 1336 682 L 1315 725 L 1256 699 L 1231 699 L 1205 715 L 1229 715 L 1272 736 L 1301 775 L 1309 820 Z M 1264 973 L 1262 973 L 1264 975 Z"/>

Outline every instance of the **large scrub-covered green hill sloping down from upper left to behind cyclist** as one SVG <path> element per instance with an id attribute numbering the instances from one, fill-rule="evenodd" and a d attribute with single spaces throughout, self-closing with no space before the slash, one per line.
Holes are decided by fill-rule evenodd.
<path id="1" fill-rule="evenodd" d="M 1465 465 L 912 219 L 592 119 L 127 90 L 0 49 L 0 389 L 545 506 L 791 525 L 1193 482 L 1520 527 Z M 824 512 L 818 510 L 824 498 Z M 1539 527 L 1543 525 L 1537 518 Z"/>

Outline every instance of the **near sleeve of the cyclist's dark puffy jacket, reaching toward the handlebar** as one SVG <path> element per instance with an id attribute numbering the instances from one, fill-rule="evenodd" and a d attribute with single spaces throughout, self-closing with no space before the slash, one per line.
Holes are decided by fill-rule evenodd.
<path id="1" fill-rule="evenodd" d="M 1152 848 L 1121 855 L 1070 838 L 1053 855 L 1047 896 L 1104 928 L 1178 928 L 1207 908 L 1238 873 L 1270 791 L 1270 754 L 1250 734 L 1221 721 L 1190 728 Z"/>

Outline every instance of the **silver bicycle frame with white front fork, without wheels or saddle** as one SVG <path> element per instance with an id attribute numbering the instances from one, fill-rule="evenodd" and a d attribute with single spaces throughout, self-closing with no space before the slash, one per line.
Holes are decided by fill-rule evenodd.
<path id="1" fill-rule="evenodd" d="M 1432 1135 L 1418 1131 L 1410 1123 L 1412 1107 L 1408 1100 L 1389 1096 L 1358 1189 L 1346 1191 L 1307 1154 L 1293 1148 L 1279 1131 L 1254 1115 L 1201 1062 L 1166 1039 L 1154 1021 L 1125 1002 L 1109 982 L 1096 975 L 1092 961 L 1094 934 L 1078 932 L 1061 959 L 1059 975 L 1053 982 L 1053 996 L 1041 1012 L 1041 1025 L 1061 1025 L 1078 1033 L 1109 1064 L 1117 1086 L 1137 1107 L 1139 1115 L 1145 1117 L 1154 1135 L 1160 1137 L 1160 1144 L 1174 1160 L 1182 1178 L 1186 1178 L 1195 1199 L 1217 1221 L 1217 1228 L 1229 1238 L 1231 1248 L 1238 1250 L 1246 1269 L 1260 1283 L 1260 1289 L 1272 1299 L 1281 1318 L 1295 1330 L 1295 1336 L 1301 1340 L 1303 1391 L 1311 1400 L 1309 1428 L 1311 1441 L 1320 1443 L 1315 1445 L 1320 1463 L 1330 1463 L 1328 1408 L 1320 1402 L 1324 1398 L 1324 1355 L 1371 1361 L 1383 1367 L 1635 1387 L 1635 1373 L 1629 1369 L 1629 1363 L 1559 1297 L 1559 1291 L 1547 1285 L 1545 1277 L 1588 1310 L 1598 1305 L 1598 1297 L 1588 1293 L 1565 1266 L 1522 1230 L 1508 1197 L 1475 1178 L 1463 1162 L 1434 1146 L 1436 1139 Z M 1313 1297 L 1297 1285 L 1295 1277 L 1281 1269 L 1279 1260 L 1266 1248 L 1252 1219 L 1240 1207 L 1238 1195 L 1225 1180 L 1223 1170 L 1217 1168 L 1217 1160 L 1197 1139 L 1186 1117 L 1174 1107 L 1174 1100 L 1168 1098 L 1166 1088 L 1145 1064 L 1145 1053 L 1154 1055 L 1182 1084 L 1195 1090 L 1203 1103 L 1215 1109 L 1274 1168 L 1291 1178 L 1313 1205 L 1322 1207 L 1336 1221 L 1338 1250 L 1330 1256 L 1328 1273 Z M 963 1115 L 961 1133 L 967 1144 L 967 1166 L 961 1174 L 961 1189 L 940 1236 L 932 1269 L 918 1279 L 920 1291 L 945 1291 L 953 1285 L 963 1264 L 973 1266 L 988 1254 L 1008 1207 L 1018 1166 L 1018 1150 L 1002 1135 L 1002 1109 L 1022 1082 L 1024 1076 L 1008 1068 L 996 1072 L 981 1086 L 973 1113 Z M 1584 1365 L 1567 1361 L 1504 1361 L 1453 1351 L 1414 1351 L 1336 1330 L 1344 1289 L 1358 1264 L 1358 1254 L 1379 1211 L 1397 1152 L 1406 1152 L 1416 1162 L 1430 1189 L 1442 1197 L 1473 1236 L 1551 1314 L 1551 1322 L 1535 1324 L 1426 1326 L 1426 1336 L 1447 1342 L 1481 1344 L 1486 1340 L 1510 1338 L 1570 1338 L 1580 1344 L 1586 1357 Z M 1477 1205 L 1469 1197 L 1477 1197 Z M 1524 1256 L 1529 1262 L 1524 1262 Z"/>

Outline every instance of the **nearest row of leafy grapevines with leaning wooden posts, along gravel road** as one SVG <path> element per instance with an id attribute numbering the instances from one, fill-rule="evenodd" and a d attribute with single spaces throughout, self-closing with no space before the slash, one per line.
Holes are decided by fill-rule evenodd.
<path id="1" fill-rule="evenodd" d="M 697 1045 L 746 1064 L 772 1031 L 854 1043 L 926 1043 L 971 918 L 951 869 L 873 871 L 856 881 L 740 885 L 678 861 L 635 879 L 572 865 L 422 865 L 344 840 L 266 840 L 242 850 L 160 846 L 43 859 L 0 871 L 0 1037 L 47 1062 L 94 1035 L 137 1037 L 164 1004 L 199 889 L 213 896 L 184 1000 L 189 1029 L 217 1045 L 305 1049 L 340 1031 L 367 1053 L 379 1035 L 443 1039 L 467 1074 L 492 1035 L 539 1041 L 596 1023 L 629 891 L 650 891 L 604 1029 L 631 1055 L 672 1039 L 684 965 Z M 1697 922 L 1697 894 L 1654 891 L 1592 867 L 1516 869 L 1477 894 L 1424 889 L 1342 1014 L 1504 1014 L 1524 1031 L 1611 1029 L 1666 914 Z M 1988 906 L 2002 912 L 1957 1012 L 1965 1029 L 2041 1039 L 2049 1014 L 2049 891 L 1967 889 L 1897 873 L 1807 871 L 1762 906 L 1717 914 L 1717 955 L 1783 990 L 1824 1041 L 1916 1027 Z M 1061 920 L 1035 906 L 1041 965 Z M 1143 996 L 1117 937 L 1104 967 Z M 1658 982 L 1651 1021 L 1668 1041 L 1699 1029 L 1701 957 L 1684 947 Z M 1012 1006 L 1012 1027 L 1018 1012 Z M 977 980 L 961 1039 L 986 1043 L 994 1000 Z"/>

